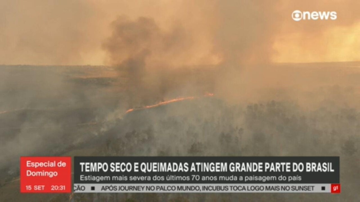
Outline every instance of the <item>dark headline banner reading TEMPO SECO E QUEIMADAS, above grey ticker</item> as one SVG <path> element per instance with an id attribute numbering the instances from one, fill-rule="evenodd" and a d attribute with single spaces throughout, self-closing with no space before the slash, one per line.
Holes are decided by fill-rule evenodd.
<path id="1" fill-rule="evenodd" d="M 74 183 L 339 183 L 338 156 L 81 156 Z"/>

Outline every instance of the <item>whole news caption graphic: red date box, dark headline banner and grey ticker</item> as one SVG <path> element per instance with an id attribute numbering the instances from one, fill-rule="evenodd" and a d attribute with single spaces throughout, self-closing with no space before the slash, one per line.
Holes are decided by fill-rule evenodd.
<path id="1" fill-rule="evenodd" d="M 340 193 L 339 157 L 328 156 L 31 156 L 20 173 L 21 193 Z"/>

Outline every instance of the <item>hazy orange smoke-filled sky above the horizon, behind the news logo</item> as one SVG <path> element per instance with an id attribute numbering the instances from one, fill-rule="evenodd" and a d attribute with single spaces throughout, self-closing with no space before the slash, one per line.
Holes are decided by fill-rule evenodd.
<path id="1" fill-rule="evenodd" d="M 152 65 L 354 61 L 359 8 L 358 0 L 0 0 L 0 64 L 111 65 L 144 47 Z M 337 19 L 295 22 L 294 10 Z M 119 23 L 151 36 L 111 41 L 132 35 L 116 35 Z"/>

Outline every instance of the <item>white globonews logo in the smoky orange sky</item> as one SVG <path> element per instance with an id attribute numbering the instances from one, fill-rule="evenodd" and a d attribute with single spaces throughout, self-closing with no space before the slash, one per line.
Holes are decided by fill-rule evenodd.
<path id="1" fill-rule="evenodd" d="M 336 20 L 337 13 L 335 11 L 300 11 L 294 10 L 291 17 L 295 21 L 300 20 Z"/>

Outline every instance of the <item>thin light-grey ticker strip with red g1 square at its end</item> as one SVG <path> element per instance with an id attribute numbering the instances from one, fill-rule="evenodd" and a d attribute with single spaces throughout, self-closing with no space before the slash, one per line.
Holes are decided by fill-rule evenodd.
<path id="1" fill-rule="evenodd" d="M 74 184 L 75 193 L 340 193 L 340 184 Z"/>

